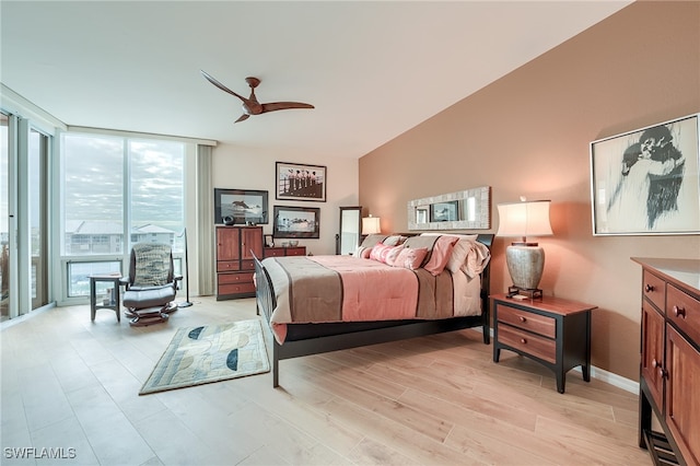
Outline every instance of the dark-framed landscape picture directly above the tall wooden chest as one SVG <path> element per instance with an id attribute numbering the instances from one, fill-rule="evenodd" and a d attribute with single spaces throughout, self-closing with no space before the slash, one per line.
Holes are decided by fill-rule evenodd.
<path id="1" fill-rule="evenodd" d="M 268 191 L 214 188 L 214 223 L 229 225 L 268 223 Z"/>

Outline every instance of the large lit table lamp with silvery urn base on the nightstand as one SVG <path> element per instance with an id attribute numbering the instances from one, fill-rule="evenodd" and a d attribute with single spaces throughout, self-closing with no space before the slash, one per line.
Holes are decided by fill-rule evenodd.
<path id="1" fill-rule="evenodd" d="M 520 236 L 505 249 L 508 271 L 513 280 L 509 296 L 541 298 L 538 287 L 545 269 L 545 249 L 527 236 L 550 236 L 549 200 L 521 198 L 521 202 L 499 203 L 499 236 Z"/>

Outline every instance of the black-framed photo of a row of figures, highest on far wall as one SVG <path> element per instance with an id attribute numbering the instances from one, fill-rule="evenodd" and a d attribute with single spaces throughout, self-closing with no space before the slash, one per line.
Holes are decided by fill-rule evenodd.
<path id="1" fill-rule="evenodd" d="M 288 162 L 275 165 L 277 199 L 326 201 L 325 166 Z"/>

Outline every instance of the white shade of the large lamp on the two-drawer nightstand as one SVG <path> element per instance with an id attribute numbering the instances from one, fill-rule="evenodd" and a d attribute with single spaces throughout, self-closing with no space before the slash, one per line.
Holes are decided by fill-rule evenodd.
<path id="1" fill-rule="evenodd" d="M 499 203 L 499 236 L 550 236 L 549 200 Z"/>

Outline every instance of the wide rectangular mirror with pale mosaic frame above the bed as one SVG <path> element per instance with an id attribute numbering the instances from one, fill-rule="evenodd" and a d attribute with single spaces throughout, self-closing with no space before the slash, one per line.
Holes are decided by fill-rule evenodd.
<path id="1" fill-rule="evenodd" d="M 489 230 L 491 187 L 408 201 L 408 230 Z"/>

